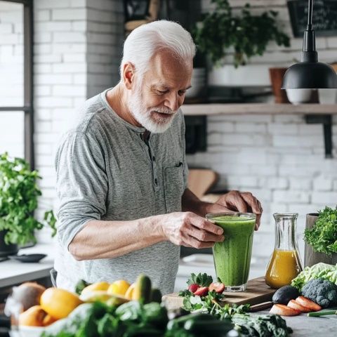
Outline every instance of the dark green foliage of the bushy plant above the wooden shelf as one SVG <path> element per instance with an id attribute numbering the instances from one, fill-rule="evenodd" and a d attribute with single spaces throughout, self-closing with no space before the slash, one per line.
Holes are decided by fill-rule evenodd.
<path id="1" fill-rule="evenodd" d="M 238 67 L 254 55 L 263 55 L 270 41 L 290 46 L 289 36 L 277 27 L 276 11 L 251 15 L 251 6 L 246 4 L 241 15 L 234 15 L 227 0 L 211 2 L 216 8 L 203 16 L 192 35 L 199 50 L 209 55 L 213 63 L 218 64 L 230 47 L 234 49 L 234 66 Z"/>

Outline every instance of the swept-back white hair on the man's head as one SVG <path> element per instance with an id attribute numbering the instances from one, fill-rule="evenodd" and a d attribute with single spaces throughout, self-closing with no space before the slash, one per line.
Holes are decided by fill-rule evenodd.
<path id="1" fill-rule="evenodd" d="M 121 76 L 126 62 L 145 74 L 152 56 L 163 49 L 169 49 L 180 60 L 190 60 L 196 48 L 190 33 L 173 21 L 157 20 L 133 29 L 124 41 Z"/>

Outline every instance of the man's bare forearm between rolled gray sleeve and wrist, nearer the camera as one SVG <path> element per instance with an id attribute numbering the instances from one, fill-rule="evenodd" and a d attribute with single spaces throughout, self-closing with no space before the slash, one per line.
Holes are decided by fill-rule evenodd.
<path id="1" fill-rule="evenodd" d="M 116 258 L 166 240 L 161 216 L 131 221 L 91 220 L 76 234 L 69 251 L 77 260 Z"/>

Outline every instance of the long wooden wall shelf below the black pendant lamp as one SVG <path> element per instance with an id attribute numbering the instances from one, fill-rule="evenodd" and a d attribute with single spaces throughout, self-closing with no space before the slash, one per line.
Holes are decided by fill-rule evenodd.
<path id="1" fill-rule="evenodd" d="M 209 103 L 185 104 L 187 116 L 211 116 L 216 114 L 337 114 L 337 104 L 267 104 L 267 103 Z"/>

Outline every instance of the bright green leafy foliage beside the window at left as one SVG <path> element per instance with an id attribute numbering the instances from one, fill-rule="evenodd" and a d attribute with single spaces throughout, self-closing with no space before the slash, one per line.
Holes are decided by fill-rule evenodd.
<path id="1" fill-rule="evenodd" d="M 44 223 L 34 218 L 37 198 L 41 190 L 37 171 L 32 171 L 25 159 L 11 158 L 8 153 L 0 154 L 0 230 L 6 230 L 6 244 L 36 242 L 34 230 L 49 225 L 56 233 L 53 211 L 44 213 Z"/>

